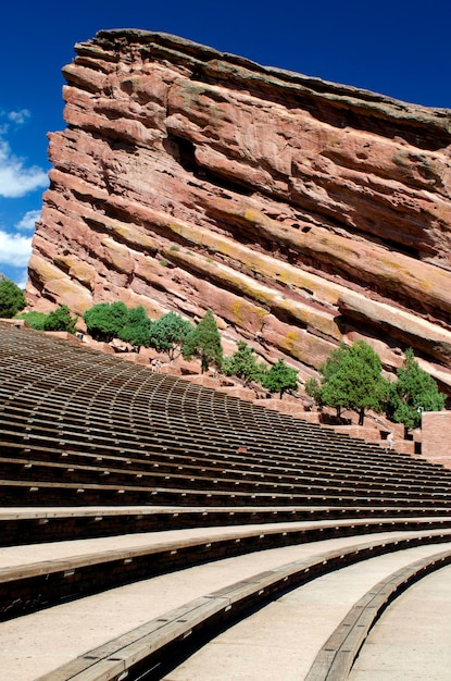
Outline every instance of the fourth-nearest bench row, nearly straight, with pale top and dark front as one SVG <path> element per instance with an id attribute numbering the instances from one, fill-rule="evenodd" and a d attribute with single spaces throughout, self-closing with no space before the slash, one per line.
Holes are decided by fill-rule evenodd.
<path id="1" fill-rule="evenodd" d="M 438 529 L 448 525 L 451 512 L 440 507 L 65 507 L 3 508 L 0 511 L 0 546 L 20 546 L 141 534 L 187 528 L 305 521 L 343 521 L 358 524 L 381 520 L 380 529 Z"/>

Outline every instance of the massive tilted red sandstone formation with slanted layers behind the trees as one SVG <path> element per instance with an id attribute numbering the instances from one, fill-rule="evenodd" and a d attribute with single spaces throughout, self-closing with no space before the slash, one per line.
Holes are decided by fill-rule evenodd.
<path id="1" fill-rule="evenodd" d="M 28 295 L 216 314 L 308 375 L 340 339 L 451 366 L 451 111 L 105 30 L 64 69 Z M 451 383 L 451 381 L 450 381 Z"/>

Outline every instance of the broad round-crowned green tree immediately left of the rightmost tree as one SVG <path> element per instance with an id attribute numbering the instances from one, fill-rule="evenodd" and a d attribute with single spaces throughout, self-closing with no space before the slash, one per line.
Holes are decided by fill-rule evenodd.
<path id="1" fill-rule="evenodd" d="M 317 397 L 338 414 L 341 409 L 352 409 L 359 413 L 359 425 L 363 425 L 366 409 L 384 410 L 388 383 L 381 375 L 379 356 L 364 340 L 350 347 L 341 344 L 330 352 L 321 372 Z"/>

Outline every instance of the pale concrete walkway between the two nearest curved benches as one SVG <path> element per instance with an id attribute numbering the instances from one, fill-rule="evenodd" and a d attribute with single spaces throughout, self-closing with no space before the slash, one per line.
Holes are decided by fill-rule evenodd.
<path id="1" fill-rule="evenodd" d="M 402 566 L 446 547 L 451 548 L 451 544 L 418 546 L 379 556 L 304 584 L 218 635 L 164 680 L 300 681 L 308 674 L 320 647 L 368 589 Z M 448 623 L 451 623 L 451 610 Z M 398 679 L 377 673 L 376 660 L 376 673 L 368 679 Z M 415 678 L 428 681 L 436 677 Z M 360 677 L 356 679 L 360 681 Z M 363 680 L 366 681 L 365 676 Z"/>

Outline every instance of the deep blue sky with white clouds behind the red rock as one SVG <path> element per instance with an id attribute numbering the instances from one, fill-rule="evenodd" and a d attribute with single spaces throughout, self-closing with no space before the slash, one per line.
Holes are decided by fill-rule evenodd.
<path id="1" fill-rule="evenodd" d="M 47 133 L 64 127 L 61 69 L 101 28 L 173 33 L 265 65 L 451 109 L 449 0 L 8 2 L 0 40 L 0 272 L 26 281 L 48 185 Z"/>

